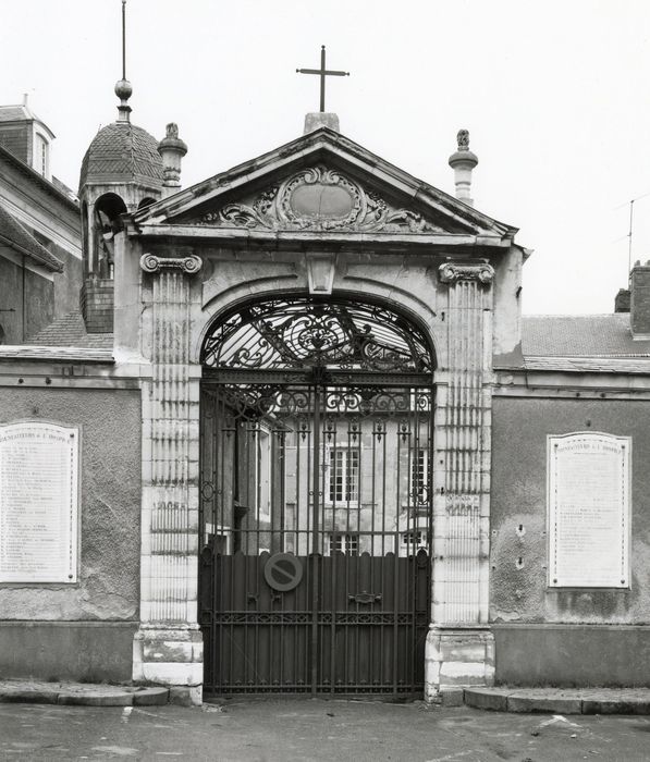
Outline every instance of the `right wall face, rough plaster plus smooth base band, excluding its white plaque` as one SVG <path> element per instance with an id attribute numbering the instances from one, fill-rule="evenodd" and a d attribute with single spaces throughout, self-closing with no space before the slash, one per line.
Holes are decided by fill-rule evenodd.
<path id="1" fill-rule="evenodd" d="M 650 685 L 648 403 L 496 397 L 492 427 L 496 680 Z M 547 435 L 575 431 L 631 437 L 629 589 L 547 586 Z"/>

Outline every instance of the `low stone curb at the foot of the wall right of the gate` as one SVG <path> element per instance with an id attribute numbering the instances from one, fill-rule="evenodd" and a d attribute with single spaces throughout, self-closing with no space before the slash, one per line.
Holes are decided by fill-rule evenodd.
<path id="1" fill-rule="evenodd" d="M 465 688 L 464 701 L 492 712 L 650 714 L 650 689 Z"/>

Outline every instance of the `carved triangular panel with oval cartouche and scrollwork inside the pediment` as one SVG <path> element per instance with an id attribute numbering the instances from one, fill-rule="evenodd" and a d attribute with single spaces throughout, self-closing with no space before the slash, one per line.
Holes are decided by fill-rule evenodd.
<path id="1" fill-rule="evenodd" d="M 394 206 L 375 190 L 323 164 L 303 169 L 262 193 L 224 204 L 184 222 L 269 231 L 444 232 L 420 213 Z"/>

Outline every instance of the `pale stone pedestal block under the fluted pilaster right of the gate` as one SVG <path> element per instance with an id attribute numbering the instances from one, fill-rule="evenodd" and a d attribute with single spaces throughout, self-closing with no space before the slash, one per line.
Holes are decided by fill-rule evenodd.
<path id="1" fill-rule="evenodd" d="M 493 685 L 494 639 L 488 627 L 432 627 L 425 650 L 425 699 L 453 688 Z"/>

